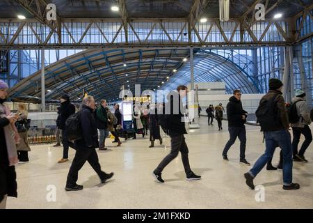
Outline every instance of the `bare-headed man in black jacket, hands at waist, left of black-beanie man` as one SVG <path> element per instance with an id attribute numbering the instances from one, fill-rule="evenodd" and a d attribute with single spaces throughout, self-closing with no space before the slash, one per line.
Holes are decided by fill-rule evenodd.
<path id="1" fill-rule="evenodd" d="M 236 138 L 240 140 L 240 162 L 250 166 L 250 163 L 246 160 L 246 118 L 248 112 L 243 110 L 241 104 L 241 92 L 234 90 L 234 95 L 230 98 L 230 102 L 227 104 L 227 119 L 228 119 L 228 132 L 230 132 L 230 140 L 227 141 L 223 151 L 223 159 L 228 161 L 227 152 L 230 150 L 230 146 L 234 144 Z"/>

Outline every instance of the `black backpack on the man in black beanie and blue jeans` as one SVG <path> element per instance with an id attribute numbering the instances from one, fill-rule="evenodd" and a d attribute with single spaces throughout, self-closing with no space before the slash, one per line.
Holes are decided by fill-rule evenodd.
<path id="1" fill-rule="evenodd" d="M 274 95 L 271 100 L 262 99 L 259 102 L 255 116 L 257 116 L 257 123 L 261 125 L 262 131 L 271 131 L 279 125 L 278 107 L 275 103 L 277 96 Z"/>

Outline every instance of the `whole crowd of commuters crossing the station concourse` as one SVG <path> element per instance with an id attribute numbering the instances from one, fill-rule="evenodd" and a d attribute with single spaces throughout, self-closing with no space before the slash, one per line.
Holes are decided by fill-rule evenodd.
<path id="1" fill-rule="evenodd" d="M 293 181 L 293 161 L 307 162 L 305 151 L 312 142 L 312 132 L 309 126 L 312 123 L 310 116 L 312 112 L 310 113 L 305 101 L 305 92 L 302 90 L 296 90 L 296 96 L 292 98 L 291 105 L 287 107 L 282 95 L 282 86 L 283 84 L 279 79 L 270 79 L 270 90 L 259 102 L 256 115 L 264 134 L 266 149 L 264 154 L 255 162 L 252 169 L 244 174 L 246 184 L 251 189 L 255 189 L 253 180 L 265 165 L 267 165 L 267 170 L 282 169 L 284 190 L 297 190 L 300 188 L 300 185 Z M 141 134 L 144 138 L 149 130 L 149 147 L 153 148 L 156 139 L 159 140 L 160 144 L 163 143 L 160 134 L 161 129 L 170 136 L 170 153 L 152 171 L 152 175 L 157 180 L 157 183 L 164 183 L 161 176 L 162 171 L 177 157 L 179 152 L 182 155 L 186 180 L 201 179 L 201 176 L 198 176 L 191 170 L 188 159 L 188 146 L 184 137 L 184 134 L 187 132 L 182 119 L 186 116 L 187 112 L 182 106 L 182 99 L 186 97 L 187 92 L 188 89 L 186 86 L 178 86 L 175 91 L 170 92 L 167 102 L 167 105 L 170 105 L 169 114 L 164 114 L 166 104 L 151 105 L 151 107 L 147 107 L 146 109 L 141 109 L 138 105 L 134 106 L 134 139 L 136 139 L 136 134 Z M 28 162 L 28 152 L 31 151 L 27 141 L 27 130 L 29 130 L 27 109 L 24 104 L 20 103 L 17 113 L 11 113 L 10 109 L 3 105 L 6 102 L 7 95 L 8 85 L 0 81 L 0 208 L 6 207 L 7 196 L 17 197 L 15 164 L 17 162 Z M 174 111 L 176 99 L 178 99 L 178 112 Z M 267 109 L 266 112 L 269 112 L 266 114 L 270 115 L 262 116 L 262 109 L 264 108 Z M 114 137 L 113 143 L 118 143 L 117 146 L 122 144 L 120 141 L 122 114 L 120 113 L 119 105 L 115 105 L 114 109 L 115 111 L 111 112 L 106 100 L 101 100 L 99 106 L 96 107 L 96 102 L 92 96 L 83 98 L 82 108 L 79 110 L 79 126 L 82 137 L 72 143 L 67 139 L 67 118 L 75 114 L 75 107 L 70 102 L 69 95 L 65 94 L 61 96 L 61 107 L 58 107 L 56 126 L 58 129 L 57 134 L 62 135 L 63 157 L 58 163 L 68 161 L 69 147 L 75 149 L 74 159 L 67 174 L 65 190 L 83 189 L 82 185 L 77 185 L 77 179 L 79 170 L 86 161 L 93 167 L 101 183 L 105 183 L 106 180 L 113 177 L 113 172 L 106 174 L 102 171 L 96 148 L 99 148 L 99 151 L 107 150 L 105 142 L 109 136 L 109 132 Z M 201 107 L 198 106 L 199 117 L 201 111 Z M 213 120 L 216 118 L 218 130 L 223 130 L 222 122 L 225 112 L 223 105 L 221 103 L 216 107 L 209 105 L 206 112 L 208 125 L 213 125 Z M 248 112 L 243 109 L 240 90 L 234 90 L 232 97 L 230 97 L 227 103 L 226 113 L 230 139 L 223 149 L 223 160 L 228 161 L 227 153 L 236 141 L 236 138 L 239 138 L 239 162 L 249 166 L 250 163 L 246 160 L 247 138 L 245 127 Z M 289 130 L 293 132 L 292 141 Z M 300 146 L 300 150 L 298 150 L 301 134 L 305 137 L 305 141 Z M 54 146 L 61 146 L 60 137 L 57 137 L 57 143 Z M 272 164 L 273 154 L 276 148 L 280 148 L 280 163 L 278 164 L 278 168 L 273 167 Z"/>

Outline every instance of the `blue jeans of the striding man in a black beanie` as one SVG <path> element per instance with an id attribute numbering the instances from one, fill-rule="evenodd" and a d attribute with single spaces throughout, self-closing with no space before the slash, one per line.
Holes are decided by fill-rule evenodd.
<path id="1" fill-rule="evenodd" d="M 282 149 L 282 178 L 284 185 L 291 185 L 292 183 L 292 147 L 291 137 L 288 130 L 279 130 L 273 132 L 264 132 L 265 134 L 265 153 L 259 157 L 255 165 L 250 169 L 249 173 L 252 177 L 257 176 L 259 171 L 263 169 L 268 160 L 273 157 L 275 147 L 277 144 Z"/>

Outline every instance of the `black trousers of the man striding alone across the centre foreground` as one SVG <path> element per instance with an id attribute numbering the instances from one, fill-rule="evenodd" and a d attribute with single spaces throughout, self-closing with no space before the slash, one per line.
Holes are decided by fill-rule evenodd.
<path id="1" fill-rule="evenodd" d="M 179 134 L 175 137 L 170 137 L 170 154 L 168 154 L 159 164 L 157 169 L 155 171 L 157 173 L 161 173 L 163 169 L 177 157 L 179 151 L 182 154 L 182 162 L 184 164 L 184 169 L 186 176 L 190 176 L 193 174 L 193 171 L 191 171 L 189 159 L 188 159 L 188 147 L 185 141 L 184 134 Z"/>

